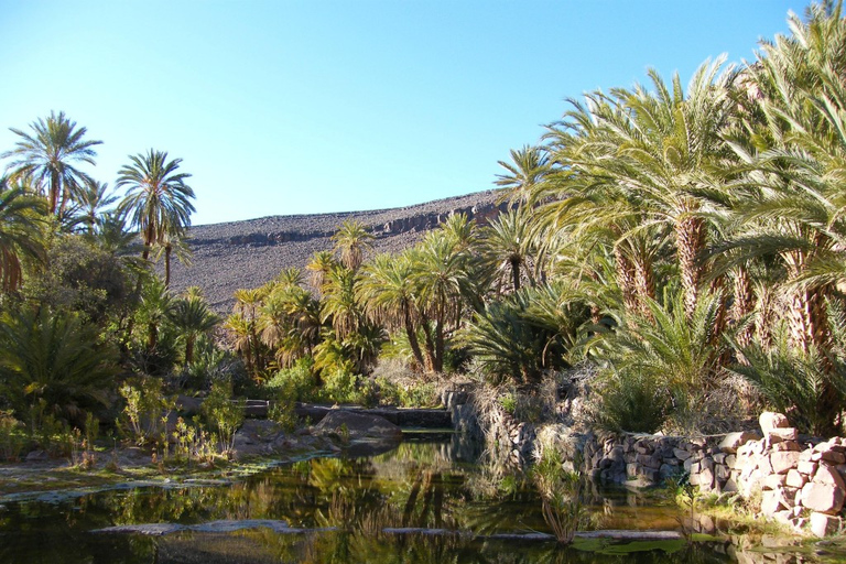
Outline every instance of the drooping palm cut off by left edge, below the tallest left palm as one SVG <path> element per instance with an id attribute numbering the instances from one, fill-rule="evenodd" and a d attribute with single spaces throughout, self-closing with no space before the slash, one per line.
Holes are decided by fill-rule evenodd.
<path id="1" fill-rule="evenodd" d="M 44 260 L 42 218 L 45 206 L 41 198 L 17 186 L 7 188 L 0 178 L 0 291 L 18 290 L 23 282 L 22 259 Z"/>

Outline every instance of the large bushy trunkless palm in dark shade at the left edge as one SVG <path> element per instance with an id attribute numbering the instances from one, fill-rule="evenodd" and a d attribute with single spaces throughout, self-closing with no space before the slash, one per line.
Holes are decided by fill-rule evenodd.
<path id="1" fill-rule="evenodd" d="M 108 403 L 117 371 L 112 347 L 78 315 L 42 307 L 0 317 L 0 397 L 18 413 L 43 404 L 83 425 L 86 411 Z"/>

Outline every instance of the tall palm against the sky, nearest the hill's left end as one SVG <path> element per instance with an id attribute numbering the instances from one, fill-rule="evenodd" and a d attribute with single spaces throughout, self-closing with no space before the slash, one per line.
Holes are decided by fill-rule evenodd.
<path id="1" fill-rule="evenodd" d="M 118 209 L 141 232 L 147 260 L 165 234 L 180 236 L 191 226 L 194 191 L 185 184 L 191 174 L 176 172 L 182 159 L 167 161 L 166 152 L 152 149 L 129 159 L 118 172 L 117 186 L 128 188 Z"/>

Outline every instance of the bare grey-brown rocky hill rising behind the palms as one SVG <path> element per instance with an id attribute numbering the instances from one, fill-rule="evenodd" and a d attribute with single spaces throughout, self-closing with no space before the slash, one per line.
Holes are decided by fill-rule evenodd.
<path id="1" fill-rule="evenodd" d="M 375 252 L 399 251 L 417 241 L 451 213 L 480 224 L 496 217 L 497 192 L 437 199 L 416 206 L 296 216 L 270 216 L 191 228 L 191 267 L 171 267 L 175 292 L 197 285 L 219 313 L 228 313 L 239 288 L 257 288 L 289 267 L 304 268 L 316 251 L 332 249 L 332 236 L 346 219 L 357 219 L 376 236 Z M 161 268 L 161 264 L 159 265 Z"/>

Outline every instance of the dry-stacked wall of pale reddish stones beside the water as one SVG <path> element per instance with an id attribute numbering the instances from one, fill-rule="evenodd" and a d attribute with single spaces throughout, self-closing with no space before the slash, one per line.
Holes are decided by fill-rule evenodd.
<path id="1" fill-rule="evenodd" d="M 846 438 L 800 440 L 784 415 L 763 413 L 761 433 L 688 440 L 665 436 L 589 437 L 583 470 L 592 478 L 653 486 L 685 476 L 699 491 L 760 498 L 760 514 L 810 530 L 839 532 L 846 500 Z"/>

